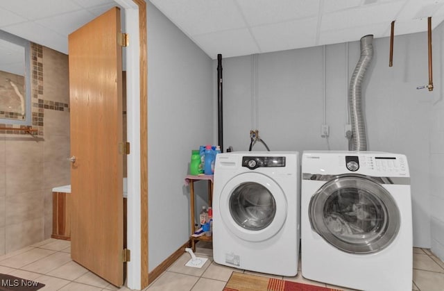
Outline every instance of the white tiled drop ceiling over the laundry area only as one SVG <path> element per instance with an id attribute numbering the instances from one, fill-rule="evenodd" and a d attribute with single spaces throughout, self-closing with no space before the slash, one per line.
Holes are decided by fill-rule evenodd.
<path id="1" fill-rule="evenodd" d="M 211 58 L 427 31 L 443 0 L 151 0 Z"/>

